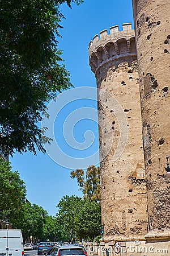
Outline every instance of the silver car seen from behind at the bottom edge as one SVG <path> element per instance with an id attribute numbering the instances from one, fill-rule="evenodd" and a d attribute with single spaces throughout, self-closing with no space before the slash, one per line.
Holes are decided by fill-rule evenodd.
<path id="1" fill-rule="evenodd" d="M 86 256 L 83 249 L 76 245 L 53 246 L 47 253 L 48 256 Z"/>

